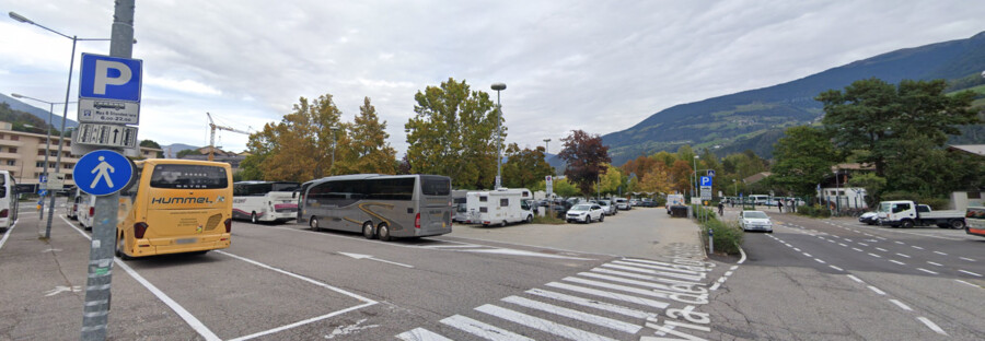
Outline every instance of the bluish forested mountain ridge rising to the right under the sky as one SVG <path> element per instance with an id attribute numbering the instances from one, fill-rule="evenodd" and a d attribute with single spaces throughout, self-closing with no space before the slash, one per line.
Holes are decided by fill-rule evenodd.
<path id="1" fill-rule="evenodd" d="M 967 87 L 985 84 L 985 32 L 967 38 L 905 48 L 763 89 L 680 104 L 629 129 L 602 137 L 612 164 L 690 144 L 719 156 L 746 149 L 770 157 L 785 128 L 816 122 L 823 116 L 814 97 L 861 79 L 890 83 L 904 79 L 946 79 Z"/>

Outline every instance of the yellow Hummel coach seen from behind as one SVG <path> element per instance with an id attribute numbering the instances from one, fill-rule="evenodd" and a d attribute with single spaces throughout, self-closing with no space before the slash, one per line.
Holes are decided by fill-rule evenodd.
<path id="1" fill-rule="evenodd" d="M 229 247 L 233 186 L 228 163 L 150 158 L 135 165 L 135 180 L 120 192 L 117 256 Z"/>

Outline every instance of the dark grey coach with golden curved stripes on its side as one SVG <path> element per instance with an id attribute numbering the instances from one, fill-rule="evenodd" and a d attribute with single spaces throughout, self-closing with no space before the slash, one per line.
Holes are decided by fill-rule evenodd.
<path id="1" fill-rule="evenodd" d="M 391 240 L 451 233 L 451 178 L 440 175 L 341 175 L 301 185 L 298 222 L 311 230 L 362 232 Z"/>

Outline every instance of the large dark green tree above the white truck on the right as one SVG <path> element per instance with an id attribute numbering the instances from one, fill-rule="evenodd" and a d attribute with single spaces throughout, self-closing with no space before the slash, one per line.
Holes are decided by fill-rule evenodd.
<path id="1" fill-rule="evenodd" d="M 873 78 L 856 81 L 844 91 L 826 91 L 816 99 L 824 105 L 822 122 L 835 144 L 868 151 L 859 154 L 858 161 L 874 165 L 876 174 L 885 176 L 889 158 L 899 155 L 894 148 L 903 143 L 902 133 L 941 146 L 949 134 L 960 134 L 959 126 L 977 122 L 976 113 L 970 109 L 974 93 L 949 96 L 946 89 L 943 80 L 904 80 L 894 86 Z M 892 177 L 888 180 L 893 183 Z"/>

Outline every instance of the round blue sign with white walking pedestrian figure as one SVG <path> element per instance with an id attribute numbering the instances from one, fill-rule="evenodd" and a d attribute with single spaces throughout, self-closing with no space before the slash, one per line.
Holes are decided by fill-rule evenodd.
<path id="1" fill-rule="evenodd" d="M 82 155 L 72 169 L 76 186 L 93 196 L 112 195 L 130 183 L 134 165 L 120 153 L 99 150 Z"/>

